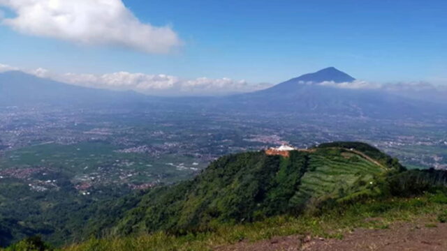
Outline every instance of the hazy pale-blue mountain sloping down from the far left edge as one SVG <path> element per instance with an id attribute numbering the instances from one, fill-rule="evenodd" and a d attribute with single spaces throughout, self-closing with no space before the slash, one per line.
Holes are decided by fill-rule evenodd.
<path id="1" fill-rule="evenodd" d="M 0 105 L 91 105 L 137 102 L 133 91 L 108 91 L 64 84 L 21 71 L 0 73 Z"/>

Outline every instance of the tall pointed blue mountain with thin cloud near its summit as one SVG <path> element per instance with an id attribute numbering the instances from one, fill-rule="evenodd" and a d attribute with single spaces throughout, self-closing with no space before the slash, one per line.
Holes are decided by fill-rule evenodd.
<path id="1" fill-rule="evenodd" d="M 381 90 L 349 87 L 355 79 L 330 67 L 282 82 L 269 89 L 231 96 L 233 109 L 331 116 L 399 118 L 445 114 L 439 105 Z M 346 83 L 343 88 L 323 82 Z M 323 84 L 322 84 L 323 83 Z"/>

